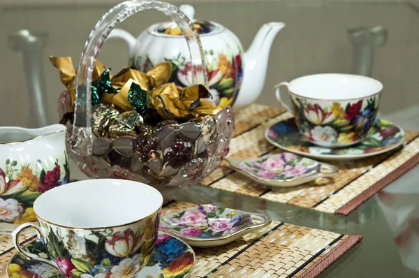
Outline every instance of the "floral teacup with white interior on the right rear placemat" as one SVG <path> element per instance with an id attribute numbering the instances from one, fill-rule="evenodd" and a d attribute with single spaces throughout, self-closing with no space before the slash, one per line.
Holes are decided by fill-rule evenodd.
<path id="1" fill-rule="evenodd" d="M 282 86 L 288 88 L 292 108 L 281 101 Z M 367 136 L 383 85 L 361 75 L 323 73 L 282 82 L 275 89 L 304 138 L 323 147 L 346 147 Z"/>

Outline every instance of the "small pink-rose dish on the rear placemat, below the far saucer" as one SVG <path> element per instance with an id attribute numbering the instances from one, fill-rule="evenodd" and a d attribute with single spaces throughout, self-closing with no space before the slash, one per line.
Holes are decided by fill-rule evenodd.
<path id="1" fill-rule="evenodd" d="M 337 174 L 339 168 L 283 152 L 267 154 L 256 159 L 226 158 L 230 168 L 250 177 L 252 180 L 274 187 L 297 186 L 316 180 L 319 177 L 329 177 Z"/>

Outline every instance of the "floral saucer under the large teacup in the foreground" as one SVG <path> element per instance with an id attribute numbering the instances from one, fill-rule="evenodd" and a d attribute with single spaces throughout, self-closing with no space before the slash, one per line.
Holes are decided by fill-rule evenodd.
<path id="1" fill-rule="evenodd" d="M 48 258 L 47 250 L 41 240 L 34 240 L 26 247 L 28 251 Z M 117 257 L 115 257 L 117 258 Z M 113 259 L 113 258 L 111 258 Z M 118 258 L 117 258 L 118 259 Z M 109 258 L 107 259 L 109 261 Z M 106 260 L 102 265 L 95 265 L 90 274 L 81 275 L 80 278 L 110 278 L 112 270 L 106 268 Z M 136 278 L 165 278 L 188 277 L 195 266 L 196 257 L 193 249 L 168 233 L 159 231 L 156 246 L 144 269 Z M 55 268 L 46 263 L 29 261 L 20 254 L 15 254 L 7 266 L 8 278 L 66 278 Z"/>

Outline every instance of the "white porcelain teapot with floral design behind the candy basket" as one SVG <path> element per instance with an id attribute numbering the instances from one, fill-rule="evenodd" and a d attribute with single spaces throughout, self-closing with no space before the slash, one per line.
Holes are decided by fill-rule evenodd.
<path id="1" fill-rule="evenodd" d="M 244 108 L 256 101 L 265 83 L 272 41 L 285 24 L 264 24 L 249 50 L 244 52 L 232 31 L 216 22 L 193 20 L 193 6 L 182 5 L 179 8 L 195 23 L 200 34 L 214 104 Z M 122 29 L 114 29 L 108 38 L 126 41 L 131 57 L 129 66 L 148 71 L 154 65 L 170 60 L 173 64 L 170 82 L 184 87 L 193 84 L 188 46 L 175 22 L 153 24 L 138 38 Z"/>

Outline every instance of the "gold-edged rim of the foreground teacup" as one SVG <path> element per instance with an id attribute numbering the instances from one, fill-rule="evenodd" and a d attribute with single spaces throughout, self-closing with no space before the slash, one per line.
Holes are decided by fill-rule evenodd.
<path id="1" fill-rule="evenodd" d="M 57 186 L 56 188 L 51 189 L 50 191 L 58 190 L 58 189 L 60 189 L 60 188 L 62 188 L 64 186 L 65 187 L 66 186 L 73 186 L 75 183 L 93 182 L 93 181 L 100 182 L 100 181 L 103 181 L 103 180 L 112 181 L 112 182 L 117 182 L 117 181 L 119 181 L 119 182 L 135 182 L 133 180 L 122 180 L 122 179 L 80 180 L 80 181 L 77 181 L 77 182 L 69 182 L 68 184 L 63 184 L 61 186 Z M 138 182 L 138 183 L 139 184 L 143 184 L 145 186 L 149 186 L 148 184 L 145 184 L 145 183 L 142 183 L 142 182 Z M 34 207 L 34 214 L 36 215 L 37 219 L 41 219 L 42 221 L 44 221 L 47 224 L 50 224 L 50 225 L 53 225 L 53 226 L 57 226 L 57 227 L 61 227 L 61 228 L 68 228 L 68 229 L 75 229 L 75 230 L 104 230 L 104 229 L 108 229 L 108 228 L 119 228 L 119 227 L 124 227 L 124 226 L 130 226 L 130 225 L 136 224 L 136 223 L 138 223 L 140 221 L 144 221 L 146 219 L 149 219 L 151 217 L 154 217 L 156 214 L 158 214 L 161 211 L 161 209 L 163 207 L 163 196 L 161 195 L 160 191 L 157 190 L 157 189 L 155 189 L 153 186 L 149 186 L 149 188 L 152 189 L 153 191 L 156 191 L 156 193 L 158 193 L 159 196 L 161 197 L 161 204 L 160 204 L 160 206 L 156 210 L 154 210 L 154 212 L 152 212 L 151 214 L 149 214 L 149 215 L 147 215 L 145 217 L 142 217 L 140 219 L 135 219 L 133 221 L 124 223 L 124 224 L 117 224 L 117 225 L 110 225 L 110 226 L 97 226 L 97 227 L 93 227 L 93 226 L 84 227 L 84 226 L 68 226 L 68 225 L 64 225 L 64 224 L 57 224 L 54 221 L 46 220 L 44 217 L 39 216 L 39 214 L 36 212 L 36 201 L 38 199 L 41 199 L 42 196 L 45 196 L 45 194 L 47 194 L 50 191 L 47 191 L 47 192 L 43 193 L 41 196 L 39 196 L 39 198 L 37 198 L 35 200 L 34 206 L 33 206 Z"/>

